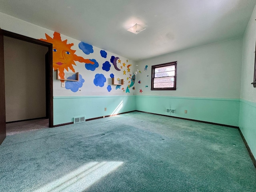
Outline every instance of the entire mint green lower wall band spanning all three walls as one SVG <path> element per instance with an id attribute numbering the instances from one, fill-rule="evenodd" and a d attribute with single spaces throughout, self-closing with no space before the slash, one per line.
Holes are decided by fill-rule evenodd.
<path id="1" fill-rule="evenodd" d="M 54 125 L 139 110 L 144 112 L 239 126 L 256 157 L 256 103 L 242 99 L 172 96 L 55 96 Z M 104 108 L 107 111 L 104 111 Z M 176 110 L 166 113 L 166 108 Z M 184 110 L 188 110 L 185 114 Z M 240 112 L 240 113 L 239 113 Z"/>

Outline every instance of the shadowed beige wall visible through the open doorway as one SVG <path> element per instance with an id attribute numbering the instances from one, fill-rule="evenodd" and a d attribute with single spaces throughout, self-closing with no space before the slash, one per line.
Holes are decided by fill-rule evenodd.
<path id="1" fill-rule="evenodd" d="M 4 36 L 6 123 L 46 116 L 48 48 Z"/>

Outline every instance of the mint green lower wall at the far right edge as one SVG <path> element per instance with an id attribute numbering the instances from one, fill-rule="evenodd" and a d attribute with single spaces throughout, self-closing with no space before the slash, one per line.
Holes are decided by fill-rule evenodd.
<path id="1" fill-rule="evenodd" d="M 240 100 L 239 128 L 256 158 L 256 103 Z"/>

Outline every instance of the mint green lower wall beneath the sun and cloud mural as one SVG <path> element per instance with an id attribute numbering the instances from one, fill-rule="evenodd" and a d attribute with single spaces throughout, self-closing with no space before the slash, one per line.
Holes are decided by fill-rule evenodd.
<path id="1" fill-rule="evenodd" d="M 136 110 L 135 96 L 55 96 L 53 124 L 73 122 L 73 117 L 78 116 L 90 119 L 133 110 Z"/>

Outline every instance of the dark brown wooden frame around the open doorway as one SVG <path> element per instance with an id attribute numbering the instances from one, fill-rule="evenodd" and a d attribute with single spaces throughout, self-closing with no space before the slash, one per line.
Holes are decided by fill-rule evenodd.
<path id="1" fill-rule="evenodd" d="M 2 35 L 3 36 L 7 36 L 10 38 L 15 38 L 18 40 L 22 40 L 22 41 L 26 41 L 26 42 L 30 42 L 30 43 L 34 43 L 34 44 L 38 44 L 41 46 L 46 46 L 48 47 L 48 53 L 46 54 L 46 61 L 45 63 L 49 64 L 49 66 L 46 66 L 46 101 L 49 101 L 49 105 L 48 105 L 48 114 L 49 114 L 49 127 L 53 127 L 53 79 L 52 79 L 52 44 L 48 43 L 48 42 L 44 42 L 38 39 L 34 39 L 34 38 L 30 38 L 27 36 L 23 36 L 20 34 L 16 34 L 10 31 L 6 31 L 6 30 L 1 30 L 2 31 Z M 0 90 L 4 90 L 4 87 L 2 86 L 2 84 L 0 85 Z M 46 107 L 47 109 L 47 107 Z M 2 116 L 2 114 L 0 114 Z M 47 116 L 47 112 L 46 112 L 46 116 Z"/>

